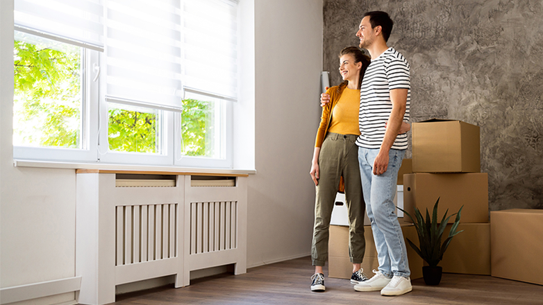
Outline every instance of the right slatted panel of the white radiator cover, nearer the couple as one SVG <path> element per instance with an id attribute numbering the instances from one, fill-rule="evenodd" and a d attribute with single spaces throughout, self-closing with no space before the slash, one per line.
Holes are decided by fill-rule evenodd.
<path id="1" fill-rule="evenodd" d="M 237 201 L 190 203 L 190 254 L 237 248 Z"/>

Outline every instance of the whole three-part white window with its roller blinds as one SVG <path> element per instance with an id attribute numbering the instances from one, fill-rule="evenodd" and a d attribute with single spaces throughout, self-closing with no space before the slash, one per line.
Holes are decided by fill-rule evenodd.
<path id="1" fill-rule="evenodd" d="M 15 158 L 232 166 L 237 1 L 15 0 L 14 15 Z"/>

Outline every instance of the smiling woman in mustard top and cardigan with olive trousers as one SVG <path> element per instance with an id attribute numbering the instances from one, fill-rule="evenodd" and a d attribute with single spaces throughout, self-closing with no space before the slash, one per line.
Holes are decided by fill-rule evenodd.
<path id="1" fill-rule="evenodd" d="M 360 85 L 370 58 L 356 46 L 340 52 L 340 73 L 343 82 L 326 91 L 330 103 L 322 108 L 321 123 L 315 139 L 315 151 L 310 175 L 315 182 L 315 226 L 311 245 L 312 265 L 315 275 L 311 277 L 311 290 L 324 291 L 322 267 L 328 259 L 328 227 L 337 191 L 345 192 L 349 211 L 349 256 L 353 263 L 351 284 L 365 281 L 360 263 L 365 252 L 364 213 L 358 148 L 358 110 L 360 107 Z M 410 129 L 403 123 L 400 133 Z"/>

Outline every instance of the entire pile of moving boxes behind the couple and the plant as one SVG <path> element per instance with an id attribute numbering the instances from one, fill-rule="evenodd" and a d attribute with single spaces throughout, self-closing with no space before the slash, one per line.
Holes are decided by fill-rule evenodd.
<path id="1" fill-rule="evenodd" d="M 398 176 L 403 209 L 411 216 L 415 216 L 415 207 L 423 214 L 426 209 L 431 213 L 440 198 L 437 213 L 441 219 L 445 211 L 451 215 L 464 206 L 458 226 L 464 232 L 456 235 L 446 250 L 440 262 L 443 272 L 492 275 L 543 285 L 543 210 L 492 211 L 492 224 L 488 222 L 488 175 L 481 173 L 479 145 L 476 125 L 439 119 L 413 123 L 412 160 L 403 160 Z M 395 203 L 401 207 L 401 198 Z M 335 225 L 330 227 L 328 276 L 349 279 L 349 227 L 346 207 L 342 208 L 341 213 L 335 211 Z M 415 227 L 407 223 L 410 218 L 399 220 L 404 238 L 417 245 Z M 453 221 L 454 217 L 444 235 L 449 234 Z M 367 219 L 365 225 L 362 268 L 371 273 L 378 267 L 377 252 Z M 409 245 L 407 250 L 411 279 L 417 279 L 422 276 L 423 261 Z"/>

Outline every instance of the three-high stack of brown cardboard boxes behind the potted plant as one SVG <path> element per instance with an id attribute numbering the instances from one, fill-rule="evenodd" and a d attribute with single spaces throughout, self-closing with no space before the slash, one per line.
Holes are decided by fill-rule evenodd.
<path id="1" fill-rule="evenodd" d="M 415 207 L 423 215 L 426 209 L 431 214 L 437 198 L 438 219 L 464 206 L 458 227 L 464 232 L 446 250 L 440 263 L 443 272 L 490 275 L 488 175 L 481 173 L 479 127 L 439 119 L 413 123 L 412 158 L 413 173 L 403 176 L 403 204 L 411 216 Z"/>

